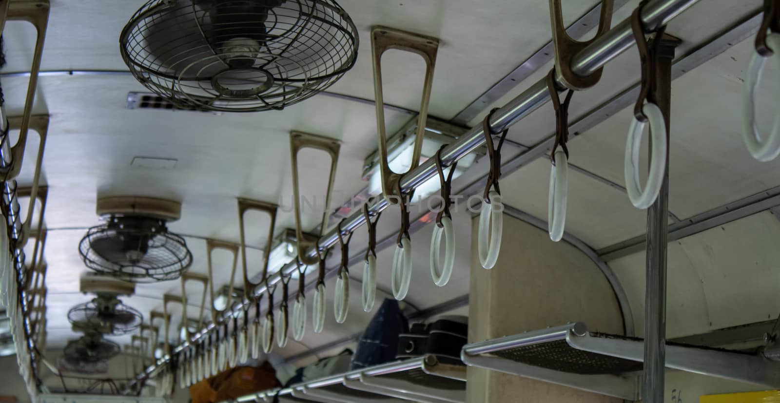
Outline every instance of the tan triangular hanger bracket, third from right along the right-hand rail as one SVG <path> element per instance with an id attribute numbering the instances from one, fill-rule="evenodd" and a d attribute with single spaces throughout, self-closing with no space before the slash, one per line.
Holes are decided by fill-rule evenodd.
<path id="1" fill-rule="evenodd" d="M 322 223 L 320 225 L 320 235 L 328 229 L 328 208 L 331 205 L 331 190 L 336 178 L 336 164 L 339 163 L 339 149 L 341 143 L 339 140 L 329 139 L 328 137 L 317 136 L 316 134 L 290 132 L 290 157 L 293 161 L 293 197 L 295 198 L 295 229 L 298 241 L 298 259 L 301 263 L 310 265 L 317 263 L 317 256 L 307 256 L 306 251 L 317 247 L 317 239 L 304 233 L 301 229 L 300 220 L 300 189 L 298 183 L 298 152 L 304 148 L 313 148 L 321 150 L 331 156 L 331 173 L 328 177 L 328 191 L 325 196 L 325 208 L 322 213 Z"/>

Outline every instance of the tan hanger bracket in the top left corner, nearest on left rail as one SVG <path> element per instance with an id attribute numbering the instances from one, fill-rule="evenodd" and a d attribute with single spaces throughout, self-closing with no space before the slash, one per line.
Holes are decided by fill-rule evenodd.
<path id="1" fill-rule="evenodd" d="M 19 175 L 19 171 L 21 170 L 24 147 L 27 144 L 27 129 L 34 120 L 34 117 L 31 116 L 31 114 L 33 111 L 35 89 L 38 83 L 38 72 L 41 70 L 41 55 L 44 51 L 44 38 L 46 37 L 46 27 L 48 25 L 49 2 L 48 0 L 6 0 L 5 5 L 0 3 L 0 10 L 5 11 L 0 15 L 0 32 L 5 28 L 5 21 L 10 20 L 27 21 L 35 26 L 37 33 L 33 63 L 30 66 L 30 81 L 27 84 L 27 98 L 24 102 L 24 110 L 19 125 L 19 141 L 15 146 L 11 147 L 12 161 L 7 178 L 13 179 L 16 178 L 16 175 Z M 48 125 L 48 116 L 46 116 L 46 119 Z M 11 119 L 9 119 L 9 123 L 12 125 L 12 122 L 10 121 Z M 43 143 L 44 136 L 41 135 L 41 147 L 38 152 L 39 161 L 43 154 Z"/>

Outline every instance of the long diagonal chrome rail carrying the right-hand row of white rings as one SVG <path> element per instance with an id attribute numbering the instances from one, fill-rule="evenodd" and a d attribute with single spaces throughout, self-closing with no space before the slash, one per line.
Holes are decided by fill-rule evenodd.
<path id="1" fill-rule="evenodd" d="M 642 9 L 641 18 L 644 27 L 646 27 L 647 30 L 654 30 L 654 28 L 661 27 L 674 19 L 675 16 L 679 16 L 680 13 L 684 12 L 698 1 L 699 0 L 651 0 L 651 2 L 648 2 Z M 612 28 L 608 34 L 605 34 L 597 41 L 594 41 L 593 44 L 590 44 L 587 48 L 580 51 L 574 58 L 573 71 L 582 76 L 587 76 L 590 72 L 594 72 L 601 68 L 632 45 L 633 34 L 631 32 L 630 23 L 628 19 L 626 19 Z M 566 88 L 560 81 L 558 81 L 557 85 L 559 90 L 564 90 Z M 519 122 L 527 115 L 530 115 L 531 112 L 546 104 L 548 101 L 550 101 L 550 94 L 548 93 L 547 84 L 543 79 L 523 91 L 523 94 L 519 94 L 512 99 L 512 101 L 509 101 L 508 104 L 505 104 L 502 108 L 498 109 L 498 111 L 495 111 L 491 117 L 490 125 L 496 132 L 501 132 L 503 129 Z M 460 136 L 455 143 L 450 144 L 442 150 L 441 162 L 445 167 L 448 167 L 482 145 L 484 145 L 484 133 L 482 132 L 482 126 L 477 125 L 477 127 L 470 129 L 468 132 L 464 133 L 463 136 Z M 400 184 L 404 192 L 408 192 L 411 189 L 417 188 L 417 186 L 420 186 L 420 184 L 427 181 L 427 179 L 432 178 L 434 175 L 437 175 L 435 163 L 433 160 L 428 160 L 420 164 L 413 171 L 404 175 Z M 382 195 L 377 198 L 376 202 L 369 206 L 369 210 L 378 212 L 385 210 L 388 205 L 388 200 Z M 353 214 L 343 222 L 342 230 L 352 232 L 365 224 L 363 212 L 360 211 L 358 213 Z M 336 242 L 338 242 L 338 239 L 338 232 L 332 230 L 321 237 L 319 244 L 322 248 L 329 248 L 334 246 Z M 312 257 L 317 256 L 317 250 L 315 248 L 309 249 L 307 255 Z M 285 267 L 282 267 L 278 273 L 268 278 L 268 285 L 275 285 L 280 281 L 282 275 L 288 276 L 295 270 L 296 264 L 290 262 L 285 265 Z M 254 289 L 255 295 L 264 293 L 265 287 L 264 284 L 258 285 Z M 234 309 L 243 309 L 243 307 L 248 304 L 249 301 L 244 300 Z M 224 318 L 227 318 L 231 314 L 232 312 L 225 312 L 223 316 Z M 198 341 L 201 338 L 204 338 L 209 332 L 214 331 L 215 327 L 215 323 L 209 323 L 204 329 L 193 335 L 192 341 Z M 174 354 L 183 351 L 184 348 L 189 345 L 190 342 L 179 345 L 174 350 Z M 137 380 L 141 380 L 151 373 L 154 373 L 158 366 L 164 364 L 165 361 L 166 360 L 158 360 L 157 365 L 147 368 L 144 373 L 140 373 L 137 376 Z M 133 386 L 133 384 L 130 384 L 129 386 Z"/>

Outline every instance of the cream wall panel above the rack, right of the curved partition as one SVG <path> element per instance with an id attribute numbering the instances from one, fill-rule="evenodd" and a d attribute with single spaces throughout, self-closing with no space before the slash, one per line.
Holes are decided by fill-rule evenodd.
<path id="1" fill-rule="evenodd" d="M 706 333 L 777 317 L 780 304 L 776 239 L 780 222 L 768 211 L 669 243 L 666 335 Z M 644 252 L 609 262 L 644 331 Z"/>

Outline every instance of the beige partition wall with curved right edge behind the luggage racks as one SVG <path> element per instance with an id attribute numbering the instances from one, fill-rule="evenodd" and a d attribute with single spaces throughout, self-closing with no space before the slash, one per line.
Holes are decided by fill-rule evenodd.
<path id="1" fill-rule="evenodd" d="M 547 232 L 504 215 L 501 254 L 491 270 L 480 266 L 472 222 L 469 343 L 583 321 L 588 330 L 623 334 L 615 293 L 579 249 L 552 242 Z M 469 403 L 619 402 L 600 394 L 516 375 L 468 368 Z"/>

